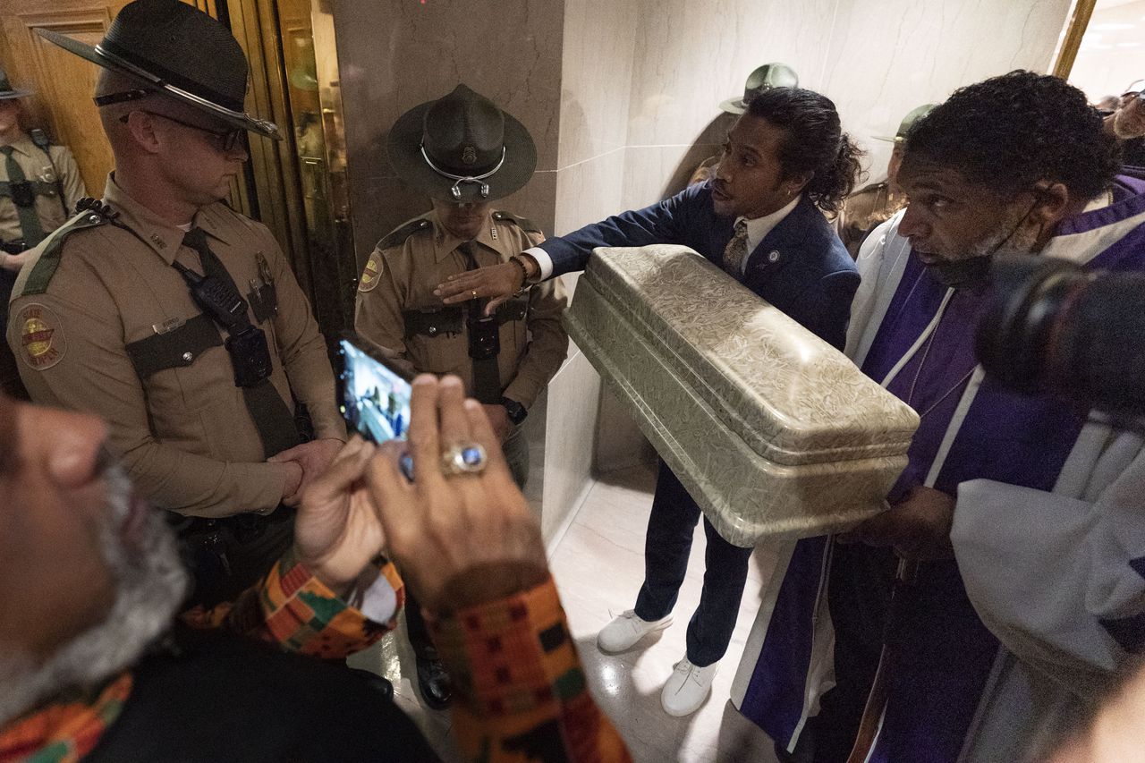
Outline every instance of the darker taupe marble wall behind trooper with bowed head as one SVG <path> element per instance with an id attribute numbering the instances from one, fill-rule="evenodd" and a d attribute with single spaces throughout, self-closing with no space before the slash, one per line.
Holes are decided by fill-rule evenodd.
<path id="1" fill-rule="evenodd" d="M 373 244 L 429 202 L 386 157 L 389 126 L 464 81 L 520 119 L 538 173 L 498 206 L 552 230 L 562 0 L 332 0 L 346 110 L 350 207 L 358 266 Z M 513 23 L 507 23 L 512 19 Z"/>

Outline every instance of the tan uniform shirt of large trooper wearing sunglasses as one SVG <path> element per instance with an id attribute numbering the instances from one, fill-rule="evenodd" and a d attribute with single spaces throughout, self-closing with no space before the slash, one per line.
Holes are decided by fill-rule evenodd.
<path id="1" fill-rule="evenodd" d="M 141 380 L 125 347 L 203 312 L 171 265 L 177 259 L 202 273 L 198 254 L 182 246 L 182 230 L 128 197 L 113 176 L 104 200 L 137 235 L 111 225 L 71 234 L 46 293 L 23 296 L 41 244 L 16 282 L 8 344 L 32 400 L 106 420 L 112 451 L 161 509 L 202 517 L 273 510 L 285 470 L 263 461 L 227 351 L 188 349 L 177 367 Z M 194 222 L 244 297 L 259 277 L 259 258 L 266 261 L 278 302 L 260 324 L 274 362 L 270 382 L 289 407 L 292 391 L 307 404 L 316 436 L 345 439 L 325 343 L 270 231 L 221 203 L 199 210 Z"/>

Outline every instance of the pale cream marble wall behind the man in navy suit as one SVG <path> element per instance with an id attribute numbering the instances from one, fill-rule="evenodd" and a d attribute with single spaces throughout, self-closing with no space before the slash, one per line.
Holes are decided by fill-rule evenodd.
<path id="1" fill-rule="evenodd" d="M 894 134 L 921 103 L 1012 69 L 1048 71 L 1069 0 L 641 0 L 624 202 L 679 188 L 714 152 L 718 104 L 759 64 L 783 61 L 831 97 L 885 173 Z M 687 30 L 681 33 L 680 30 Z M 887 131 L 890 131 L 887 133 Z"/>

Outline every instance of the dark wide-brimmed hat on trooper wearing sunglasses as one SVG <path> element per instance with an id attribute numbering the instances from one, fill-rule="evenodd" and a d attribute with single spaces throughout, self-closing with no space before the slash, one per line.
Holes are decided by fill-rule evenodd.
<path id="1" fill-rule="evenodd" d="M 232 127 L 282 137 L 274 123 L 243 110 L 248 72 L 238 40 L 219 21 L 184 2 L 135 0 L 124 6 L 95 46 L 46 29 L 35 31 L 104 69 L 142 80 L 149 88 L 121 94 L 117 100 L 156 91 Z M 103 105 L 110 102 L 96 101 Z"/>

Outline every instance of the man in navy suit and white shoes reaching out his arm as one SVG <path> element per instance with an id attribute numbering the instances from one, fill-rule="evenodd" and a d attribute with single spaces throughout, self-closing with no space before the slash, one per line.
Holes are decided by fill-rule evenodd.
<path id="1" fill-rule="evenodd" d="M 453 276 L 436 293 L 447 304 L 489 297 L 493 309 L 526 282 L 584 269 L 597 246 L 682 244 L 842 349 L 859 274 L 823 211 L 838 209 L 858 173 L 858 150 L 843 134 L 834 103 L 800 88 L 765 91 L 728 133 L 712 180 L 550 238 L 510 262 Z M 700 516 L 662 463 L 648 520 L 645 583 L 635 608 L 600 632 L 602 651 L 627 650 L 670 622 Z M 688 623 L 687 654 L 661 693 L 665 711 L 678 716 L 708 697 L 735 628 L 751 556 L 751 549 L 732 545 L 706 520 L 704 530 L 704 587 Z"/>

